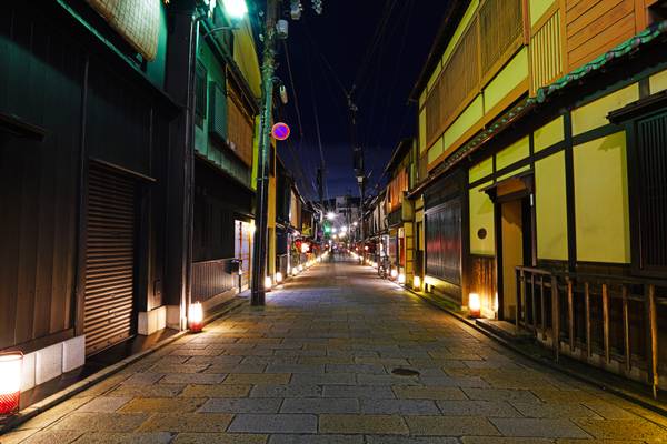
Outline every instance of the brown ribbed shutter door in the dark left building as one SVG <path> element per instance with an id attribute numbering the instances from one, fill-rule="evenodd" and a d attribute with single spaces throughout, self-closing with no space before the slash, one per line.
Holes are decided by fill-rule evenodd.
<path id="1" fill-rule="evenodd" d="M 86 245 L 86 354 L 131 335 L 135 182 L 91 165 Z"/>

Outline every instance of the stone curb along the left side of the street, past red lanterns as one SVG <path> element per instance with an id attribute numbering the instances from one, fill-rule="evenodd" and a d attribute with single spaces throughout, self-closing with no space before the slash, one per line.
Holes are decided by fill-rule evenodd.
<path id="1" fill-rule="evenodd" d="M 245 299 L 235 297 L 235 299 L 230 300 L 230 302 L 228 304 L 223 304 L 223 306 L 221 307 L 220 311 L 208 316 L 205 320 L 205 323 L 210 323 L 217 319 L 220 319 L 220 317 L 225 316 L 226 314 L 232 312 L 233 310 L 236 310 L 247 303 L 248 303 L 248 301 Z M 67 387 L 62 389 L 61 391 L 53 393 L 51 396 L 48 396 L 44 400 L 42 400 L 38 403 L 34 403 L 34 404 L 30 405 L 29 407 L 23 408 L 17 415 L 10 417 L 4 424 L 0 424 L 0 435 L 16 428 L 17 426 L 23 424 L 28 420 L 33 418 L 34 416 L 39 415 L 40 413 L 43 413 L 43 412 L 48 411 L 49 408 L 52 408 L 56 405 L 72 398 L 74 395 L 83 392 L 87 389 L 90 389 L 94 384 L 102 382 L 107 377 L 112 376 L 113 374 L 128 367 L 130 364 L 133 364 L 135 362 L 157 352 L 158 350 L 171 344 L 172 342 L 183 337 L 187 334 L 189 334 L 189 330 L 183 330 L 182 332 L 176 333 L 175 335 L 156 343 L 150 349 L 147 349 L 147 350 L 139 352 L 137 354 L 133 354 L 131 356 L 128 356 L 125 360 L 117 362 L 116 364 L 109 365 L 109 366 L 100 370 L 99 372 L 93 373 L 90 376 L 88 376 L 70 386 L 67 386 Z"/>

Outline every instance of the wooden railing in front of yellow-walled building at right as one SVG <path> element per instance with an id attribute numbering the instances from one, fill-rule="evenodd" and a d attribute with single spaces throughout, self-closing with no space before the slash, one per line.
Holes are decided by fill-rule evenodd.
<path id="1" fill-rule="evenodd" d="M 627 376 L 645 373 L 657 396 L 658 343 L 667 334 L 660 312 L 667 306 L 666 280 L 517 266 L 516 282 L 517 329 L 550 344 L 556 360 L 566 351 L 595 363 L 597 354 L 598 364 L 609 370 L 614 361 Z"/>

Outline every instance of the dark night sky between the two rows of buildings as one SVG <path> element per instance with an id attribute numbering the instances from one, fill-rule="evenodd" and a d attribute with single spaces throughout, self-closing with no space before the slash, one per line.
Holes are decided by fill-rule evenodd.
<path id="1" fill-rule="evenodd" d="M 299 183 L 301 192 L 316 198 L 317 110 L 328 195 L 358 195 L 346 92 L 357 85 L 357 137 L 366 150 L 366 169 L 372 171 L 372 188 L 400 139 L 415 135 L 416 109 L 407 104 L 408 95 L 447 0 L 322 0 L 321 16 L 312 11 L 311 0 L 301 1 L 303 16 L 300 21 L 290 20 L 288 49 L 280 43 L 278 56 L 278 75 L 290 100 L 282 118 L 292 129 L 290 145 L 281 143 L 279 153 L 295 176 L 305 180 Z"/>

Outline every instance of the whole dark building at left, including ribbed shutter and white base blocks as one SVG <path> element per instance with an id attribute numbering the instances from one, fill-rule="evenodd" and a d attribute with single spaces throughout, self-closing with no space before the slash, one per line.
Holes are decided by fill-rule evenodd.
<path id="1" fill-rule="evenodd" d="M 3 7 L 0 351 L 26 354 L 23 391 L 180 306 L 167 282 L 167 232 L 180 225 L 167 178 L 182 150 L 170 138 L 182 108 L 166 75 L 169 13 L 162 2 Z"/>

